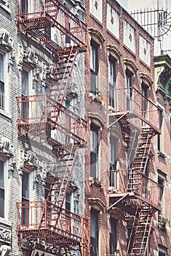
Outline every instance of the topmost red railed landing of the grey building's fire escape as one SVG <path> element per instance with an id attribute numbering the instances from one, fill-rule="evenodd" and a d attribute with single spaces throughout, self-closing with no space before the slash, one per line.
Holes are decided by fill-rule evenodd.
<path id="1" fill-rule="evenodd" d="M 17 31 L 18 33 L 27 31 L 33 37 L 37 37 L 41 42 L 48 44 L 52 50 L 61 50 L 66 47 L 67 38 L 70 44 L 79 51 L 85 51 L 87 45 L 87 26 L 76 15 L 73 15 L 65 5 L 58 0 L 36 0 L 36 11 L 28 11 L 17 1 Z M 55 28 L 60 31 L 60 44 L 54 42 L 44 32 L 48 28 Z"/>

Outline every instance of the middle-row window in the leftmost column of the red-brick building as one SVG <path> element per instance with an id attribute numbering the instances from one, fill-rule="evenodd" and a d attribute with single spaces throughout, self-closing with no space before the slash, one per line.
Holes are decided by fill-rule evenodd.
<path id="1" fill-rule="evenodd" d="M 99 127 L 90 127 L 90 176 L 98 178 Z"/>

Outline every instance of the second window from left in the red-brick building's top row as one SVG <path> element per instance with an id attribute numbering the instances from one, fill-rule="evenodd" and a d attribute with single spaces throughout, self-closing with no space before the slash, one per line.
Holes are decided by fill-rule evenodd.
<path id="1" fill-rule="evenodd" d="M 109 105 L 116 108 L 116 59 L 109 58 Z"/>

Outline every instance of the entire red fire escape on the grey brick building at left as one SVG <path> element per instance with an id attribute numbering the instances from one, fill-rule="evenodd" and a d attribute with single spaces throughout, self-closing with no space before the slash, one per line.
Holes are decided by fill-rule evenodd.
<path id="1" fill-rule="evenodd" d="M 17 6 L 17 32 L 52 53 L 55 75 L 48 94 L 17 97 L 18 138 L 45 139 L 57 157 L 57 166 L 47 200 L 17 203 L 18 243 L 36 248 L 44 244 L 47 251 L 63 255 L 79 250 L 86 256 L 90 255 L 89 220 L 67 211 L 63 203 L 76 153 L 86 144 L 87 121 L 63 102 L 76 56 L 86 51 L 87 26 L 61 1 L 35 1 L 35 7 L 36 11 L 28 13 L 23 12 L 26 7 Z M 51 28 L 56 29 L 59 43 L 45 33 Z"/>

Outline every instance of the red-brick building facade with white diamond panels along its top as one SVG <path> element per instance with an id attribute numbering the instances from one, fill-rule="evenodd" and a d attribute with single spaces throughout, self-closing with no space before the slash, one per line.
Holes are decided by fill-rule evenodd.
<path id="1" fill-rule="evenodd" d="M 160 135 L 157 102 L 163 96 L 156 94 L 154 39 L 114 1 L 87 1 L 86 23 L 85 214 L 91 255 L 169 255 L 169 214 L 165 210 L 167 231 L 161 231 L 158 183 L 164 186 L 159 177 L 166 175 L 170 157 L 164 174 L 156 145 L 161 138 L 170 148 L 170 105 L 163 104 L 167 128 Z"/>

